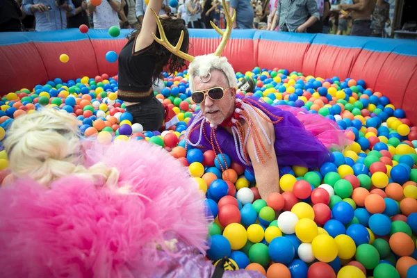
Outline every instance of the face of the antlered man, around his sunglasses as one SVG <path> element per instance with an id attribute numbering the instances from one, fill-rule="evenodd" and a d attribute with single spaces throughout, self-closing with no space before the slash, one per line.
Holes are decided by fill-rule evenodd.
<path id="1" fill-rule="evenodd" d="M 226 76 L 220 70 L 212 70 L 210 81 L 204 83 L 199 76 L 194 77 L 194 90 L 207 90 L 214 87 L 229 88 Z M 204 77 L 202 77 L 203 80 Z M 234 111 L 236 90 L 231 88 L 224 92 L 220 100 L 213 100 L 206 95 L 204 101 L 199 104 L 204 116 L 211 124 L 221 124 Z"/>

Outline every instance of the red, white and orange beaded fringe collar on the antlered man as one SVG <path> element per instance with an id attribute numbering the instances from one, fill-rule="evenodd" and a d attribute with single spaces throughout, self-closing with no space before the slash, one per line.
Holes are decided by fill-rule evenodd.
<path id="1" fill-rule="evenodd" d="M 263 100 L 259 100 L 263 101 Z M 259 111 L 260 109 L 261 111 Z M 265 116 L 268 115 L 269 117 Z M 268 152 L 268 149 L 266 149 L 265 145 L 263 145 L 263 142 L 261 140 L 261 136 L 258 131 L 258 127 L 261 129 L 263 136 L 265 136 L 268 145 L 271 145 L 273 142 L 271 142 L 268 133 L 265 131 L 263 125 L 261 124 L 260 117 L 272 124 L 277 124 L 279 121 L 282 120 L 282 117 L 278 117 L 276 115 L 273 115 L 268 111 L 266 108 L 263 108 L 263 106 L 256 106 L 256 101 L 254 99 L 250 98 L 243 98 L 240 99 L 236 97 L 235 100 L 235 109 L 234 113 L 232 113 L 226 120 L 224 120 L 220 126 L 223 128 L 229 127 L 231 129 L 231 134 L 234 138 L 234 145 L 236 148 L 236 153 L 238 155 L 238 159 L 240 163 L 243 163 L 243 165 L 250 166 L 252 165 L 250 158 L 247 154 L 247 150 L 245 149 L 245 146 L 247 144 L 247 140 L 251 137 L 252 138 L 252 144 L 254 146 L 255 150 L 255 158 L 256 162 L 265 163 L 265 159 L 261 154 L 261 150 L 268 156 L 268 158 L 272 158 L 271 154 Z M 239 120 L 242 119 L 247 123 L 247 132 L 245 134 L 245 129 L 243 127 L 243 124 L 239 122 Z M 271 120 L 274 119 L 274 120 Z M 204 125 L 209 124 L 210 125 L 210 133 L 206 134 L 206 131 L 204 129 Z M 220 162 L 220 159 L 218 158 L 218 154 L 220 154 L 223 158 L 223 161 L 226 161 L 224 158 L 224 154 L 222 150 L 220 149 L 220 144 L 218 142 L 218 139 L 216 138 L 215 131 L 218 128 L 217 124 L 211 124 L 208 119 L 202 115 L 202 112 L 199 111 L 197 115 L 195 116 L 195 120 L 188 126 L 188 129 L 186 130 L 186 149 L 188 144 L 193 147 L 202 147 L 200 146 L 200 143 L 202 142 L 202 138 L 207 140 L 207 142 L 210 143 L 211 149 L 213 150 L 216 159 L 218 160 L 218 163 L 220 165 L 220 168 L 222 172 L 228 169 L 227 165 L 224 163 L 225 169 L 223 167 L 223 163 Z M 194 131 L 197 131 L 199 129 L 199 138 L 197 142 L 191 142 L 190 135 Z"/>

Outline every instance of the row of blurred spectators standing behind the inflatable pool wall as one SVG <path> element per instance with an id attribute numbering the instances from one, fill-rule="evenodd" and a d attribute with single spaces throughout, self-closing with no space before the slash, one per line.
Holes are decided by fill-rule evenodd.
<path id="1" fill-rule="evenodd" d="M 181 17 L 188 28 L 213 28 L 210 22 L 224 28 L 224 14 L 236 11 L 234 28 L 386 36 L 384 28 L 391 21 L 385 0 L 332 2 L 337 8 L 329 0 L 227 0 L 226 7 L 221 0 L 164 0 L 160 15 Z M 147 0 L 1 0 L 0 31 L 52 31 L 81 24 L 136 28 L 146 8 Z"/>

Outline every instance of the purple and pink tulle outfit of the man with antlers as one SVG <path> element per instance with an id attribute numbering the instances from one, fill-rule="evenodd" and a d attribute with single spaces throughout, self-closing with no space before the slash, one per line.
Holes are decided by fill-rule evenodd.
<path id="1" fill-rule="evenodd" d="M 240 95 L 236 95 L 236 97 L 243 99 Z M 296 165 L 315 169 L 329 159 L 330 148 L 341 150 L 350 143 L 345 132 L 339 129 L 334 121 L 321 115 L 311 114 L 303 108 L 272 106 L 256 97 L 247 98 L 252 99 L 251 104 L 256 108 L 266 109 L 272 115 L 282 118 L 281 121 L 274 124 L 274 147 L 279 167 Z M 272 121 L 276 120 L 272 116 L 268 117 Z M 194 119 L 190 120 L 189 124 Z M 208 123 L 204 124 L 204 129 L 206 134 L 210 134 L 211 127 Z M 215 136 L 222 152 L 230 156 L 232 161 L 240 163 L 231 133 L 219 126 L 215 129 Z M 197 142 L 198 138 L 199 129 L 190 133 L 191 142 Z M 211 143 L 204 136 L 202 136 L 198 147 L 203 152 L 212 149 Z M 252 165 L 243 166 L 246 170 L 254 172 Z"/>

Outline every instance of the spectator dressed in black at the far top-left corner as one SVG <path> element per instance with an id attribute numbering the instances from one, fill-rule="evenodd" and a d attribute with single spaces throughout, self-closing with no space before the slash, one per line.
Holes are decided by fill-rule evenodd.
<path id="1" fill-rule="evenodd" d="M 22 31 L 22 15 L 15 0 L 0 0 L 0 32 Z"/>

